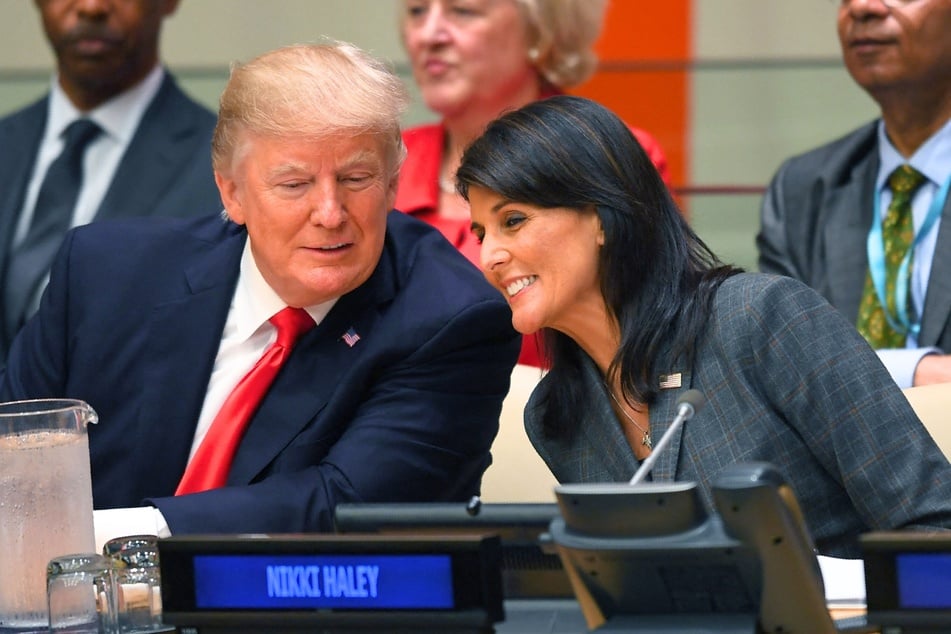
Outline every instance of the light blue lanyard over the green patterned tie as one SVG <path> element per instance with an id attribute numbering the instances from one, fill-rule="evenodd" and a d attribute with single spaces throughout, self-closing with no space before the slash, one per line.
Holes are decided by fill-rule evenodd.
<path id="1" fill-rule="evenodd" d="M 902 258 L 898 267 L 898 273 L 895 278 L 895 309 L 898 312 L 897 318 L 901 323 L 896 323 L 896 316 L 888 311 L 888 304 L 885 303 L 885 245 L 882 235 L 882 208 L 881 195 L 875 196 L 875 217 L 872 219 L 872 229 L 868 233 L 868 264 L 869 273 L 872 276 L 872 283 L 875 285 L 875 294 L 878 295 L 878 302 L 881 304 L 888 324 L 897 332 L 912 334 L 918 336 L 921 330 L 921 318 L 915 323 L 910 323 L 908 319 L 908 284 L 911 279 L 911 256 L 915 252 L 918 243 L 928 235 L 938 218 L 941 217 L 941 211 L 944 209 L 944 203 L 948 199 L 948 189 L 951 188 L 951 176 L 945 179 L 944 184 L 935 194 L 928 208 L 928 214 L 921 228 L 915 234 L 915 239 L 905 257 Z"/>

